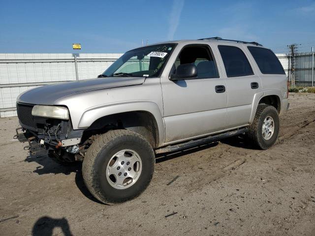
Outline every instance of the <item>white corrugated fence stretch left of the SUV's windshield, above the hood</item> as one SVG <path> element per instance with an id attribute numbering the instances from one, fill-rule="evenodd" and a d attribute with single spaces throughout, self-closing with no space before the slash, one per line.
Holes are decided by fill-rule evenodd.
<path id="1" fill-rule="evenodd" d="M 92 79 L 122 54 L 75 54 L 78 79 Z M 76 80 L 74 54 L 0 54 L 0 117 L 16 116 L 17 96 L 36 86 Z"/>

